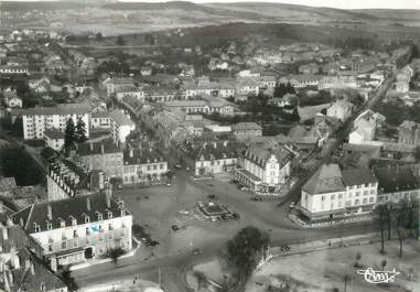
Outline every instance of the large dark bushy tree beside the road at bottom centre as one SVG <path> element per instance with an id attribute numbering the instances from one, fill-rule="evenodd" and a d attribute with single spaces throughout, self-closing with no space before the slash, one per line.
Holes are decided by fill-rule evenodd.
<path id="1" fill-rule="evenodd" d="M 243 228 L 227 242 L 227 262 L 239 277 L 248 278 L 266 257 L 269 240 L 267 232 L 254 226 Z"/>

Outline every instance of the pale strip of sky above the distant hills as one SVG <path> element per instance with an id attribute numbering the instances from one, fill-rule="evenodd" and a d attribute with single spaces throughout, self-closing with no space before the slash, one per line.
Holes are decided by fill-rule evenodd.
<path id="1" fill-rule="evenodd" d="M 0 0 L 1 1 L 1 0 Z M 13 1 L 13 0 L 11 0 Z M 14 0 L 34 1 L 34 0 Z M 36 0 L 35 0 L 36 1 Z M 168 0 L 119 0 L 122 2 L 165 2 Z M 197 3 L 205 2 L 279 2 L 312 7 L 331 7 L 340 9 L 419 9 L 420 0 L 187 0 Z"/>

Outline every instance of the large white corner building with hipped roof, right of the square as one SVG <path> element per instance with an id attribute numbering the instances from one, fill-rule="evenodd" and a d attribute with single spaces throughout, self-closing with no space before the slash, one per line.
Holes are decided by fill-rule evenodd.
<path id="1" fill-rule="evenodd" d="M 303 185 L 300 209 L 310 219 L 370 213 L 377 201 L 378 181 L 368 169 L 342 171 L 323 164 Z"/>

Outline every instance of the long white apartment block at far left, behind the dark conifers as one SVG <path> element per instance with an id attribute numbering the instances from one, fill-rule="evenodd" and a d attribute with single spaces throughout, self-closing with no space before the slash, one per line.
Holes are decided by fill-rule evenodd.
<path id="1" fill-rule="evenodd" d="M 77 123 L 82 119 L 86 125 L 86 137 L 89 137 L 89 108 L 80 104 L 61 104 L 55 107 L 29 108 L 17 110 L 21 113 L 23 120 L 23 138 L 44 139 L 46 129 L 55 128 L 64 132 L 68 119 Z M 14 113 L 14 112 L 13 112 Z"/>

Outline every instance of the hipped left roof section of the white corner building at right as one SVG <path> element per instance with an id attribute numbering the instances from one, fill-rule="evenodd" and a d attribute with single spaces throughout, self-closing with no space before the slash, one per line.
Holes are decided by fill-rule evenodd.
<path id="1" fill-rule="evenodd" d="M 302 190 L 312 195 L 345 191 L 338 164 L 323 164 L 303 185 Z"/>

